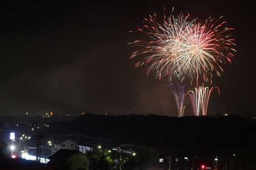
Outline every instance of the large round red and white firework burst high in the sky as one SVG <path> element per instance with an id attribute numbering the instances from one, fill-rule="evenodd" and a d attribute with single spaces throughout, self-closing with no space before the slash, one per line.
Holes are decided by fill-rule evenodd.
<path id="1" fill-rule="evenodd" d="M 160 24 L 156 15 L 144 18 L 143 29 L 147 41 L 136 40 L 129 47 L 138 48 L 131 58 L 142 58 L 135 67 L 147 65 L 147 76 L 156 71 L 156 78 L 177 78 L 181 82 L 198 77 L 203 82 L 212 82 L 214 74 L 223 72 L 222 64 L 231 63 L 236 52 L 234 39 L 226 34 L 230 28 L 223 28 L 226 22 L 207 19 L 205 22 L 189 19 L 189 14 L 170 15 Z M 198 80 L 197 80 L 198 81 Z"/>

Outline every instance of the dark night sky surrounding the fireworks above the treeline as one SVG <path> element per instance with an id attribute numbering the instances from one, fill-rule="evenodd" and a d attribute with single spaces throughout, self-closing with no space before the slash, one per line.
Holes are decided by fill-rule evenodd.
<path id="1" fill-rule="evenodd" d="M 126 1 L 10 3 L 0 5 L 0 114 L 160 114 L 177 110 L 168 80 L 134 68 L 129 33 L 156 13 L 187 11 L 205 20 L 224 16 L 237 44 L 236 57 L 213 79 L 208 114 L 255 113 L 255 9 L 245 2 Z M 140 38 L 141 39 L 141 38 Z M 192 89 L 187 86 L 187 89 Z M 192 115 L 186 99 L 185 115 Z"/>

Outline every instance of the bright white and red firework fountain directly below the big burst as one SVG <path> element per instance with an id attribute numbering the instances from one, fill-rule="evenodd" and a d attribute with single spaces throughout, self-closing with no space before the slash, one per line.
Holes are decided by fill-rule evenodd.
<path id="1" fill-rule="evenodd" d="M 218 89 L 218 94 L 220 94 L 220 89 L 217 86 L 211 88 L 199 86 L 195 88 L 195 92 L 191 90 L 188 91 L 194 115 L 199 116 L 201 111 L 202 115 L 206 116 L 210 94 L 215 88 Z"/>

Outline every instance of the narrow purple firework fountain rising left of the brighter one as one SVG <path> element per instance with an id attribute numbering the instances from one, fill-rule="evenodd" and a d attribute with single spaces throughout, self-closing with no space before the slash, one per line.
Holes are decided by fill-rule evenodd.
<path id="1" fill-rule="evenodd" d="M 176 87 L 173 83 L 170 83 L 167 85 L 170 89 L 172 89 L 173 94 L 174 94 L 174 99 L 176 102 L 177 110 L 178 110 L 178 117 L 182 117 L 184 115 L 184 110 L 185 110 L 185 105 L 184 105 L 184 100 L 186 98 L 185 92 L 185 85 L 179 85 L 178 90 L 176 90 Z"/>

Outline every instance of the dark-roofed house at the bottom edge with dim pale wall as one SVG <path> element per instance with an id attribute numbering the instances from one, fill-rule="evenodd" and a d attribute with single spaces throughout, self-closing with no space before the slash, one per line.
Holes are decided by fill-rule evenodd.
<path id="1" fill-rule="evenodd" d="M 56 166 L 57 169 L 89 169 L 90 159 L 77 150 L 60 149 L 48 159 L 50 161 L 47 164 Z"/>

